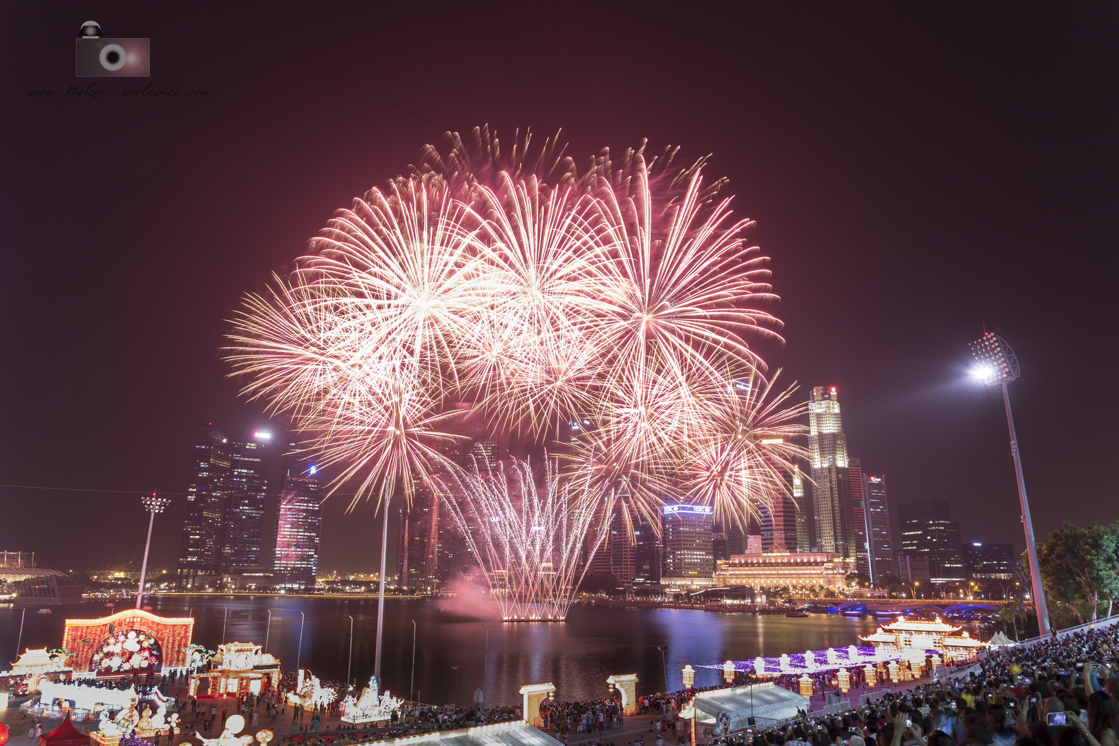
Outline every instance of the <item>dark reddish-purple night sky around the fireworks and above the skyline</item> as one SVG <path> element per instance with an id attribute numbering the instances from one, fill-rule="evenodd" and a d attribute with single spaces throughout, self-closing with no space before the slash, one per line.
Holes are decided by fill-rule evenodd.
<path id="1" fill-rule="evenodd" d="M 787 344 L 759 351 L 806 397 L 838 387 L 850 455 L 894 503 L 948 499 L 965 540 L 1023 548 L 1000 396 L 965 376 L 986 324 L 1022 365 L 1038 535 L 1119 518 L 1115 4 L 0 13 L 0 483 L 72 490 L 0 488 L 0 549 L 135 560 L 138 495 L 159 490 L 152 561 L 172 568 L 195 425 L 269 425 L 218 359 L 238 299 L 422 145 L 483 123 L 562 129 L 580 161 L 642 138 L 712 153 L 783 299 Z M 74 77 L 88 19 L 150 37 L 152 76 Z M 67 95 L 91 82 L 105 93 Z M 149 83 L 180 95 L 123 95 Z M 369 570 L 379 521 L 345 506 L 326 506 L 320 568 Z"/>

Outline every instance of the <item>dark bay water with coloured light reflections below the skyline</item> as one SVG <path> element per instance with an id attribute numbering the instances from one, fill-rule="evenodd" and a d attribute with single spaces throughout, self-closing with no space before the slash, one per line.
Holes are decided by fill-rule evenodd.
<path id="1" fill-rule="evenodd" d="M 116 610 L 130 608 L 117 601 Z M 376 599 L 244 595 L 148 596 L 144 605 L 164 616 L 195 618 L 194 641 L 215 650 L 222 642 L 264 644 L 285 669 L 297 661 L 316 676 L 359 683 L 373 673 L 376 645 Z M 269 625 L 267 610 L 272 610 Z M 105 602 L 55 606 L 38 614 L 0 605 L 0 661 L 15 661 L 21 616 L 23 648 L 62 644 L 63 621 L 95 618 L 112 613 Z M 302 618 L 300 613 L 302 612 Z M 350 620 L 354 617 L 352 655 Z M 413 676 L 412 634 L 415 621 L 415 683 L 426 702 L 469 702 L 481 687 L 487 703 L 520 701 L 526 683 L 551 681 L 564 700 L 599 699 L 606 695 L 606 677 L 636 673 L 639 693 L 681 688 L 686 663 L 722 663 L 758 655 L 820 650 L 857 643 L 874 632 L 875 620 L 838 614 L 787 618 L 780 614 L 693 612 L 667 608 L 574 606 L 567 621 L 502 623 L 488 614 L 454 611 L 441 599 L 397 599 L 385 603 L 383 680 L 394 695 L 407 696 Z M 302 645 L 300 625 L 302 623 Z M 482 629 L 482 625 L 486 629 Z M 224 633 L 223 633 L 224 629 Z M 489 650 L 487 652 L 487 629 Z M 658 645 L 667 645 L 661 663 Z M 459 670 L 452 670 L 458 665 Z M 455 686 L 455 680 L 458 684 Z M 696 684 L 721 681 L 720 672 L 697 669 Z"/>

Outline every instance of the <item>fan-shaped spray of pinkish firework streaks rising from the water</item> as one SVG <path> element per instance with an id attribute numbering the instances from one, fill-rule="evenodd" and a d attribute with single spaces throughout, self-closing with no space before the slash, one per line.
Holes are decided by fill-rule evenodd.
<path id="1" fill-rule="evenodd" d="M 545 459 L 539 488 L 527 459 L 509 471 L 511 480 L 501 464 L 482 473 L 476 462 L 470 473 L 452 472 L 453 487 L 436 482 L 501 618 L 561 622 L 586 569 L 579 561 L 584 537 L 596 532 L 596 546 L 608 529 L 594 525 L 595 502 L 561 483 L 555 460 Z"/>

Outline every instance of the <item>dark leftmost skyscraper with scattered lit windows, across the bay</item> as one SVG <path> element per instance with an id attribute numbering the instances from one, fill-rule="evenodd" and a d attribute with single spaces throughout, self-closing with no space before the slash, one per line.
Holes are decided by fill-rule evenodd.
<path id="1" fill-rule="evenodd" d="M 229 510 L 231 446 L 214 423 L 195 429 L 187 516 L 182 525 L 178 580 L 192 587 L 198 575 L 222 572 L 222 547 Z"/>

